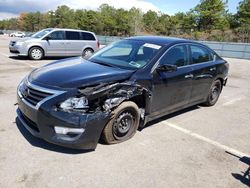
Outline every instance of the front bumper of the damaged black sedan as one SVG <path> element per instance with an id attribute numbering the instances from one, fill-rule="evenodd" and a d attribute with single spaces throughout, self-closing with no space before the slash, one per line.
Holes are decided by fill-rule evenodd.
<path id="1" fill-rule="evenodd" d="M 33 136 L 68 148 L 95 149 L 102 130 L 110 119 L 110 114 L 105 112 L 79 114 L 53 110 L 50 105 L 53 99 L 38 109 L 27 105 L 19 94 L 17 100 L 17 118 Z M 77 135 L 58 134 L 55 132 L 55 126 L 81 128 L 84 132 Z"/>

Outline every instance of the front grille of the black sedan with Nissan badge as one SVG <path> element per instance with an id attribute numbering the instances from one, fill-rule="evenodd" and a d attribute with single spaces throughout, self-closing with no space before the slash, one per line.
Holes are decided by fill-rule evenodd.
<path id="1" fill-rule="evenodd" d="M 20 92 L 22 94 L 22 97 L 29 102 L 30 104 L 32 104 L 33 106 L 36 106 L 37 103 L 39 103 L 40 101 L 42 101 L 43 99 L 53 95 L 52 93 L 46 93 L 44 91 L 40 91 L 38 89 L 34 89 L 30 86 L 27 86 L 25 84 L 23 84 L 20 87 Z"/>

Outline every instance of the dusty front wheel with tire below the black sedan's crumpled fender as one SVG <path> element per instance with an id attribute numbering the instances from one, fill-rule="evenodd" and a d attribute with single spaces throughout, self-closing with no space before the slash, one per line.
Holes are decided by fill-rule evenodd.
<path id="1" fill-rule="evenodd" d="M 106 144 L 124 142 L 134 136 L 140 122 L 138 106 L 131 101 L 123 102 L 114 111 L 111 120 L 102 132 Z"/>

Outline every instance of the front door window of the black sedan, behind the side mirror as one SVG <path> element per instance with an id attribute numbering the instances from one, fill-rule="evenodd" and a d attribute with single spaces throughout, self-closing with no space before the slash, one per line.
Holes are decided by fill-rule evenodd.
<path id="1" fill-rule="evenodd" d="M 187 65 L 187 47 L 185 45 L 179 45 L 171 48 L 161 59 L 160 64 L 170 64 L 181 67 Z"/>

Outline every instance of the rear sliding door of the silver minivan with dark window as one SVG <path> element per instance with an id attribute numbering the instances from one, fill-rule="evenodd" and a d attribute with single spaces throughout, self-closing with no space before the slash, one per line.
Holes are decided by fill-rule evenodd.
<path id="1" fill-rule="evenodd" d="M 65 31 L 65 47 L 68 56 L 80 56 L 82 55 L 81 35 L 78 31 Z"/>

